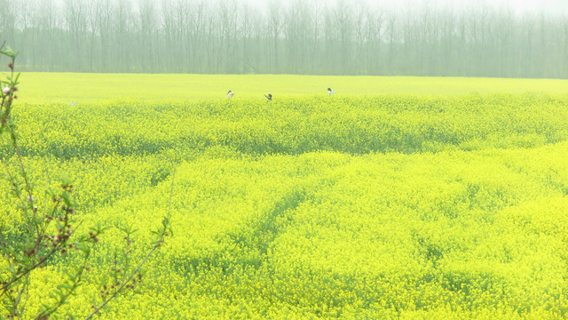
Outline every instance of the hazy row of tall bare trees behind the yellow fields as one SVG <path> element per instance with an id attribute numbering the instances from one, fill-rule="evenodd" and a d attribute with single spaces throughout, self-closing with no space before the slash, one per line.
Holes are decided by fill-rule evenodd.
<path id="1" fill-rule="evenodd" d="M 568 76 L 568 17 L 480 4 L 0 0 L 28 71 Z"/>

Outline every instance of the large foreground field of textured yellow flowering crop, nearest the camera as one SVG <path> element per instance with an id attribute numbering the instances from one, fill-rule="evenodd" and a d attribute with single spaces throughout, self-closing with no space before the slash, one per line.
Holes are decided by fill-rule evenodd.
<path id="1" fill-rule="evenodd" d="M 43 168 L 67 172 L 82 228 L 134 225 L 137 258 L 177 168 L 174 236 L 101 318 L 562 318 L 567 98 L 113 100 L 15 116 L 36 190 Z M 60 316 L 91 310 L 121 238 L 101 243 Z M 30 310 L 65 262 L 32 279 Z"/>

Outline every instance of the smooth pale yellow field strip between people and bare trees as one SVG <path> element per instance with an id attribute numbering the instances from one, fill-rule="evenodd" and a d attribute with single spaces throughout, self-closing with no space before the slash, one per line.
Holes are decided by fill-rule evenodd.
<path id="1" fill-rule="evenodd" d="M 289 96 L 376 94 L 457 95 L 465 93 L 565 93 L 568 80 L 427 76 L 147 75 L 25 72 L 20 98 L 64 104 L 114 100 L 218 100 L 229 90 L 235 100 L 274 100 Z"/>

